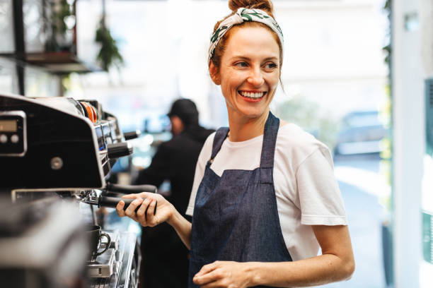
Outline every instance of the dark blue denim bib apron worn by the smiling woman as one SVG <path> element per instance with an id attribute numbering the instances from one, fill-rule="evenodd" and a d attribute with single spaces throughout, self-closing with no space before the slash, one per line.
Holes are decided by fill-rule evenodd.
<path id="1" fill-rule="evenodd" d="M 273 181 L 279 119 L 269 113 L 263 134 L 260 167 L 224 170 L 210 168 L 229 133 L 219 128 L 195 198 L 192 217 L 189 287 L 203 265 L 216 260 L 237 262 L 291 261 L 282 236 Z M 248 155 L 245 155 L 248 157 Z"/>

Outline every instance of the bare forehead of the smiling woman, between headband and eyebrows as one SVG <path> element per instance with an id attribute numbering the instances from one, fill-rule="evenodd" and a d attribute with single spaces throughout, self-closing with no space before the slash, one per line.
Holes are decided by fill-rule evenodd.
<path id="1" fill-rule="evenodd" d="M 261 56 L 279 59 L 279 46 L 270 30 L 263 27 L 239 27 L 230 33 L 223 57 Z"/>

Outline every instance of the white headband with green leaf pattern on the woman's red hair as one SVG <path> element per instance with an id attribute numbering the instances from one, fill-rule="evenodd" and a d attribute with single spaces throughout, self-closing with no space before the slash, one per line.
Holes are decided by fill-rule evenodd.
<path id="1" fill-rule="evenodd" d="M 215 48 L 217 47 L 217 44 L 219 40 L 226 34 L 226 32 L 232 28 L 236 24 L 241 24 L 244 21 L 255 21 L 263 23 L 267 26 L 269 26 L 275 33 L 277 33 L 279 42 L 281 44 L 284 43 L 282 30 L 279 28 L 279 25 L 277 21 L 274 20 L 271 16 L 267 15 L 265 11 L 262 11 L 260 9 L 248 9 L 248 8 L 238 8 L 238 11 L 234 13 L 229 18 L 226 18 L 226 20 L 222 21 L 218 29 L 215 30 L 215 32 L 212 34 L 210 38 L 210 47 L 209 47 L 209 59 L 214 56 Z"/>

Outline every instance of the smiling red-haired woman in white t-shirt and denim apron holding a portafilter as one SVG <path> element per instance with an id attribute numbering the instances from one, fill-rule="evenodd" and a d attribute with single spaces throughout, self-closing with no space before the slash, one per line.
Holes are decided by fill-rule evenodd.
<path id="1" fill-rule="evenodd" d="M 137 200 L 125 212 L 121 201 L 117 213 L 143 226 L 171 224 L 190 248 L 190 287 L 348 279 L 354 258 L 330 152 L 270 113 L 283 54 L 272 3 L 232 0 L 229 7 L 233 13 L 215 25 L 209 48 L 229 128 L 209 136 L 200 152 L 187 210 L 192 224 L 151 193 L 125 196 Z"/>

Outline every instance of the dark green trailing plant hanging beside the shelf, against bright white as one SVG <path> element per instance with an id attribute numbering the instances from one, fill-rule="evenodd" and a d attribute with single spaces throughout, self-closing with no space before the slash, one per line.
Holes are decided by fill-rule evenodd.
<path id="1" fill-rule="evenodd" d="M 104 17 L 100 20 L 98 30 L 96 30 L 95 41 L 100 43 L 100 51 L 97 59 L 104 71 L 115 65 L 117 68 L 122 66 L 123 58 L 117 48 L 116 40 L 111 36 L 110 30 L 105 26 Z"/>

